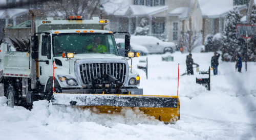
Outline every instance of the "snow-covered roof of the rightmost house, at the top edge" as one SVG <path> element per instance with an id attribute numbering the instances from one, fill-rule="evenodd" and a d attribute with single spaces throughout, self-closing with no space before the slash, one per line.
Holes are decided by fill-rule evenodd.
<path id="1" fill-rule="evenodd" d="M 220 17 L 233 10 L 233 0 L 197 0 L 203 17 Z M 238 6 L 241 10 L 246 5 Z"/>

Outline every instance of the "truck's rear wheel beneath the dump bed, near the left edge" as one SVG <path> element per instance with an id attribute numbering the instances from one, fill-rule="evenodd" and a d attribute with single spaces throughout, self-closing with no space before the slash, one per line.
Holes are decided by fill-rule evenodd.
<path id="1" fill-rule="evenodd" d="M 8 87 L 8 90 L 7 90 L 7 105 L 10 106 L 10 107 L 14 107 L 17 105 L 17 96 L 16 96 L 16 92 L 13 88 L 12 85 L 10 85 Z"/>

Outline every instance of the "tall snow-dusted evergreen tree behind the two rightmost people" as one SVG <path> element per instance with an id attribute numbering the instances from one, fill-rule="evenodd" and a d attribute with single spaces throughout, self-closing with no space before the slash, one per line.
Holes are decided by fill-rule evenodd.
<path id="1" fill-rule="evenodd" d="M 236 26 L 241 24 L 241 15 L 238 7 L 229 11 L 226 16 L 224 31 L 224 45 L 222 48 L 222 61 L 236 61 L 236 55 L 242 52 L 241 40 L 236 37 Z"/>

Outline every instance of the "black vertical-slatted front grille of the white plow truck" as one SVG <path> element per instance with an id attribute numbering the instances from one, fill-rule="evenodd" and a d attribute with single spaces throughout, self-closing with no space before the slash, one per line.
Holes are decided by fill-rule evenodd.
<path id="1" fill-rule="evenodd" d="M 126 66 L 124 63 L 91 63 L 80 64 L 81 79 L 84 84 L 91 84 L 92 79 L 102 78 L 103 75 L 111 74 L 120 79 L 125 79 Z"/>

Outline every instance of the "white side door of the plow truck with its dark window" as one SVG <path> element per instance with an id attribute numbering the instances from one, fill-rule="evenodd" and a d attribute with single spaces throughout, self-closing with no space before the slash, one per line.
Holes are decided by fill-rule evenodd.
<path id="1" fill-rule="evenodd" d="M 38 62 L 38 77 L 42 85 L 45 85 L 49 74 L 52 72 L 52 51 L 51 51 L 51 35 L 41 35 L 41 43 L 39 45 L 39 61 L 49 61 L 49 64 L 46 62 Z"/>

